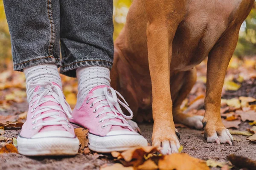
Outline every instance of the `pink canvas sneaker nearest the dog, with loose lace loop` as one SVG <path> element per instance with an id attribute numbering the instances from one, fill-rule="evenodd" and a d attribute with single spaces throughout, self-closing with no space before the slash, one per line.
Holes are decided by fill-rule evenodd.
<path id="1" fill-rule="evenodd" d="M 148 145 L 147 140 L 126 121 L 132 118 L 132 111 L 127 102 L 121 102 L 116 94 L 123 99 L 109 86 L 96 86 L 86 96 L 81 107 L 73 110 L 70 122 L 75 128 L 86 127 L 89 130 L 90 150 L 109 153 Z M 119 104 L 131 115 L 126 116 Z"/>

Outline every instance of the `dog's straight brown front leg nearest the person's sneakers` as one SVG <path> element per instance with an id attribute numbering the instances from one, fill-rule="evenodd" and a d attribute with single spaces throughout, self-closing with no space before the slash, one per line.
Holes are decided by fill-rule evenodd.
<path id="1" fill-rule="evenodd" d="M 161 3 L 160 3 L 161 2 Z M 148 62 L 152 82 L 154 127 L 152 144 L 162 154 L 177 153 L 180 142 L 175 134 L 170 93 L 172 41 L 184 17 L 184 2 L 145 0 L 147 14 Z"/>

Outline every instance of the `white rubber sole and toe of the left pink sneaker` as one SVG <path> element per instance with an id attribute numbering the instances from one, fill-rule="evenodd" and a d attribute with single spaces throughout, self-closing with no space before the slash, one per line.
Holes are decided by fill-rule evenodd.
<path id="1" fill-rule="evenodd" d="M 66 137 L 17 137 L 18 151 L 26 156 L 73 156 L 78 153 L 79 140 Z"/>

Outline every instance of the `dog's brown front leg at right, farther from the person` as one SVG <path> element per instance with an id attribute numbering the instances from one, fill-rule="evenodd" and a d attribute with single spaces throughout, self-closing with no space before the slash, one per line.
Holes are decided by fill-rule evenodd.
<path id="1" fill-rule="evenodd" d="M 204 137 L 207 142 L 233 145 L 233 137 L 221 122 L 221 90 L 227 66 L 238 41 L 239 28 L 232 29 L 217 42 L 209 53 L 207 63 L 207 91 L 205 97 Z"/>

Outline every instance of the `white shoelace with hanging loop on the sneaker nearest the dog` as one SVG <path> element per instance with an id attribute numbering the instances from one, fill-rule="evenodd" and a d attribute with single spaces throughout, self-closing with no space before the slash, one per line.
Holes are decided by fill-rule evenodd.
<path id="1" fill-rule="evenodd" d="M 118 94 L 118 96 L 121 97 L 121 99 L 125 103 L 123 103 L 121 100 L 119 100 L 117 98 L 116 94 Z M 131 120 L 132 116 L 133 116 L 133 113 L 132 113 L 131 109 L 128 107 L 129 106 L 128 103 L 125 101 L 125 99 L 123 98 L 123 96 L 121 94 L 119 94 L 113 88 L 104 87 L 103 91 L 102 91 L 102 94 L 97 94 L 97 95 L 91 96 L 90 98 L 87 99 L 86 103 L 88 104 L 90 99 L 93 99 L 93 98 L 96 98 L 96 100 L 94 100 L 92 102 L 92 104 L 90 105 L 90 108 L 92 108 L 93 105 L 96 102 L 100 103 L 100 105 L 98 105 L 93 110 L 93 113 L 96 113 L 99 108 L 103 108 L 103 111 L 98 113 L 96 115 L 96 118 L 99 118 L 104 113 L 106 113 L 106 115 L 107 115 L 104 118 L 100 119 L 99 122 L 101 123 L 101 122 L 104 122 L 104 120 L 106 120 L 106 119 L 110 119 L 110 122 L 102 125 L 102 128 L 105 128 L 108 125 L 117 125 L 117 126 L 122 126 L 122 127 L 131 127 L 125 119 Z M 130 113 L 130 116 L 126 116 L 122 112 L 122 109 L 120 108 L 119 104 L 121 104 Z M 109 107 L 104 107 L 104 106 L 109 106 Z M 121 116 L 119 116 L 118 114 L 121 115 Z M 116 121 L 113 121 L 111 119 L 120 119 L 120 120 L 122 120 L 123 122 L 126 122 L 126 123 L 116 122 Z"/>

